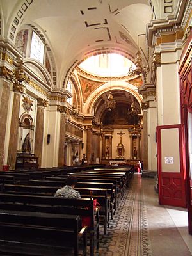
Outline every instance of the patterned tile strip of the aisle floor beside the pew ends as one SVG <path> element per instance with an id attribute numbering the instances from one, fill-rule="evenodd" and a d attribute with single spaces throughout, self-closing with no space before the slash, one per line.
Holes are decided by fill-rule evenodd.
<path id="1" fill-rule="evenodd" d="M 100 239 L 100 248 L 96 255 L 152 255 L 146 207 L 138 179 L 133 179 L 127 189 L 120 207 L 110 223 L 108 234 L 102 235 L 102 239 Z"/>

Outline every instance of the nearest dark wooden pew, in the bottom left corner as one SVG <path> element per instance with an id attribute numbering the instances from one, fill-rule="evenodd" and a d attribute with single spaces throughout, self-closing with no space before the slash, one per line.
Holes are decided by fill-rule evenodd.
<path id="1" fill-rule="evenodd" d="M 79 241 L 83 239 L 83 255 L 86 255 L 87 227 L 83 227 L 80 232 L 78 228 L 79 216 L 1 210 L 0 252 L 15 250 L 22 255 L 24 247 L 31 251 L 31 255 L 35 255 L 33 252 L 47 256 L 69 255 L 67 248 L 70 247 L 74 250 L 74 256 L 77 256 Z"/>

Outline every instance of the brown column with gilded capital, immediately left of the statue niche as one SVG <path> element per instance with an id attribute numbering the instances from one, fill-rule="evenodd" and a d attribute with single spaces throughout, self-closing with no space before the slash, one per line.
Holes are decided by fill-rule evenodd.
<path id="1" fill-rule="evenodd" d="M 18 132 L 19 132 L 19 110 L 20 110 L 20 97 L 21 93 L 26 92 L 26 88 L 19 83 L 13 84 L 14 98 L 12 108 L 12 122 L 10 127 L 10 142 L 8 149 L 8 164 L 12 170 L 15 169 L 17 145 L 18 145 Z"/>

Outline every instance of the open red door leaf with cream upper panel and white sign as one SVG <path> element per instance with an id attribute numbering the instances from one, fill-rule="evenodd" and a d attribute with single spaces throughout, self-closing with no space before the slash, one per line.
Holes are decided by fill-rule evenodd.
<path id="1" fill-rule="evenodd" d="M 159 204 L 186 207 L 183 125 L 157 126 Z"/>

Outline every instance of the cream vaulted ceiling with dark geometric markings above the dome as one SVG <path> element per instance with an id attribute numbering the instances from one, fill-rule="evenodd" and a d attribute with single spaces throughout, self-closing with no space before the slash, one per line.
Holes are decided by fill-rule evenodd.
<path id="1" fill-rule="evenodd" d="M 152 12 L 148 0 L 1 0 L 0 4 L 4 25 L 10 24 L 4 36 L 15 17 L 20 17 L 18 31 L 25 24 L 39 28 L 51 47 L 59 79 L 74 61 L 96 49 L 121 49 L 134 58 L 138 34 L 145 33 Z M 140 37 L 143 51 L 144 42 L 145 35 Z"/>

